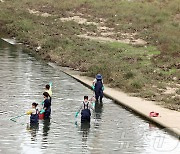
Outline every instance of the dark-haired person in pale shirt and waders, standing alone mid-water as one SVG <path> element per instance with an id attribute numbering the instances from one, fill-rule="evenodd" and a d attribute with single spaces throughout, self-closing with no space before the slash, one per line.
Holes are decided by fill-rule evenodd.
<path id="1" fill-rule="evenodd" d="M 88 96 L 84 96 L 84 101 L 82 102 L 80 108 L 76 112 L 75 117 L 77 118 L 79 112 L 81 111 L 81 123 L 91 121 L 91 111 L 90 109 L 94 110 L 91 103 L 88 101 Z"/>

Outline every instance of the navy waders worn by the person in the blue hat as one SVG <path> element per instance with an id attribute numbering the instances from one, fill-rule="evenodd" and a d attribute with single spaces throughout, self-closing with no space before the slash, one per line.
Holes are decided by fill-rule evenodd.
<path id="1" fill-rule="evenodd" d="M 95 83 L 95 98 L 96 101 L 98 101 L 99 97 L 100 97 L 100 101 L 102 102 L 102 98 L 103 98 L 103 83 L 102 80 L 97 80 L 97 82 Z"/>

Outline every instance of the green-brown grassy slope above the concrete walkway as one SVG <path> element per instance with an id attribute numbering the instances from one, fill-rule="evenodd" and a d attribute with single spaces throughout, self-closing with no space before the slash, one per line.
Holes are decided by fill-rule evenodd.
<path id="1" fill-rule="evenodd" d="M 178 0 L 6 0 L 0 4 L 0 26 L 10 36 L 28 44 L 47 60 L 57 61 L 94 76 L 102 73 L 105 82 L 127 92 L 166 102 L 180 109 L 179 90 L 163 94 L 167 86 L 176 87 L 180 79 L 180 2 Z M 42 17 L 28 9 L 50 13 Z M 87 19 L 106 19 L 115 31 L 138 32 L 149 45 L 99 43 L 78 38 L 94 25 L 61 22 L 67 12 L 81 12 Z M 91 16 L 88 16 L 91 15 Z M 151 45 L 150 45 L 151 44 Z"/>

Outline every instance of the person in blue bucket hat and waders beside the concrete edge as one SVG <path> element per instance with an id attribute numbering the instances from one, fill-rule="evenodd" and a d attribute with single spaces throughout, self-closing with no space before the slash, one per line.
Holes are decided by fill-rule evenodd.
<path id="1" fill-rule="evenodd" d="M 100 98 L 100 102 L 102 102 L 104 86 L 103 86 L 103 79 L 101 74 L 96 75 L 96 78 L 93 81 L 92 89 L 95 92 L 96 102 L 98 102 L 99 98 Z"/>

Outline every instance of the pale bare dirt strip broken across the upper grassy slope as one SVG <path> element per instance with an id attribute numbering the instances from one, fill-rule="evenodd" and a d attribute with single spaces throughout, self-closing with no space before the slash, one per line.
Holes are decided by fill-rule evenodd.
<path id="1" fill-rule="evenodd" d="M 49 17 L 52 16 L 49 13 L 40 12 L 37 10 L 28 9 L 28 12 L 30 14 L 34 14 L 37 16 L 42 17 Z M 147 42 L 136 38 L 137 33 L 122 33 L 122 32 L 116 32 L 114 28 L 110 28 L 105 26 L 106 19 L 99 18 L 98 21 L 100 22 L 93 22 L 88 21 L 82 13 L 73 13 L 68 12 L 70 17 L 60 18 L 62 22 L 68 22 L 68 21 L 74 21 L 78 24 L 84 24 L 84 25 L 94 25 L 96 26 L 96 30 L 98 32 L 86 32 L 84 34 L 77 35 L 78 37 L 100 41 L 100 42 L 119 42 L 119 43 L 126 43 L 126 44 L 132 44 L 132 45 L 146 45 Z M 116 34 L 120 35 L 120 37 L 116 37 Z"/>

